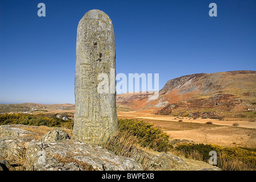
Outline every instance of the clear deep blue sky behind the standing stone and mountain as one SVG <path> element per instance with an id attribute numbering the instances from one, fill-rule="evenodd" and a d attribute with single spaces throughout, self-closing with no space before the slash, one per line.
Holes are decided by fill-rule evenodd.
<path id="1" fill-rule="evenodd" d="M 0 104 L 74 104 L 77 26 L 92 9 L 114 24 L 117 73 L 159 73 L 161 89 L 193 73 L 255 71 L 255 8 L 255 0 L 0 0 Z"/>

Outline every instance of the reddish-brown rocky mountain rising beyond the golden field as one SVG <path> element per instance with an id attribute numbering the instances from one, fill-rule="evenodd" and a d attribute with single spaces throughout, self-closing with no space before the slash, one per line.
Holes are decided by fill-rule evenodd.
<path id="1" fill-rule="evenodd" d="M 149 93 L 118 94 L 118 110 L 161 115 L 255 117 L 256 71 L 181 76 L 167 81 L 157 100 L 148 100 L 148 96 Z"/>

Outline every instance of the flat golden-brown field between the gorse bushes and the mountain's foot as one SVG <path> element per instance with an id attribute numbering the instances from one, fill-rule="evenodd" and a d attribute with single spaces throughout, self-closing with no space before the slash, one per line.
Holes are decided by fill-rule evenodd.
<path id="1" fill-rule="evenodd" d="M 219 121 L 218 119 L 171 117 L 135 111 L 119 111 L 118 118 L 140 119 L 153 123 L 154 126 L 161 127 L 170 136 L 170 140 L 187 139 L 195 143 L 256 148 L 256 122 L 246 118 L 223 118 Z M 211 123 L 207 125 L 206 122 Z"/>

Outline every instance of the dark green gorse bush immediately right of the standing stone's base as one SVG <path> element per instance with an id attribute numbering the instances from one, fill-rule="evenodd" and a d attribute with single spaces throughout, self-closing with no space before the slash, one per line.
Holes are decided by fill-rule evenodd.
<path id="1" fill-rule="evenodd" d="M 119 119 L 118 125 L 119 131 L 130 132 L 136 136 L 142 147 L 149 147 L 159 152 L 169 150 L 169 136 L 163 133 L 159 127 L 132 119 Z"/>

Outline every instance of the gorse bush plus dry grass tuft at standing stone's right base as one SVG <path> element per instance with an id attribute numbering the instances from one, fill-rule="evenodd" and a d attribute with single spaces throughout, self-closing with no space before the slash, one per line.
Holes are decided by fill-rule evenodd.
<path id="1" fill-rule="evenodd" d="M 155 151 L 166 152 L 172 147 L 168 144 L 169 136 L 163 133 L 159 127 L 153 127 L 147 122 L 119 119 L 118 125 L 117 133 L 107 139 L 105 143 L 101 143 L 101 146 L 116 155 L 137 160 L 142 164 L 144 170 L 149 167 L 151 159 L 146 151 L 139 148 L 146 147 Z"/>

